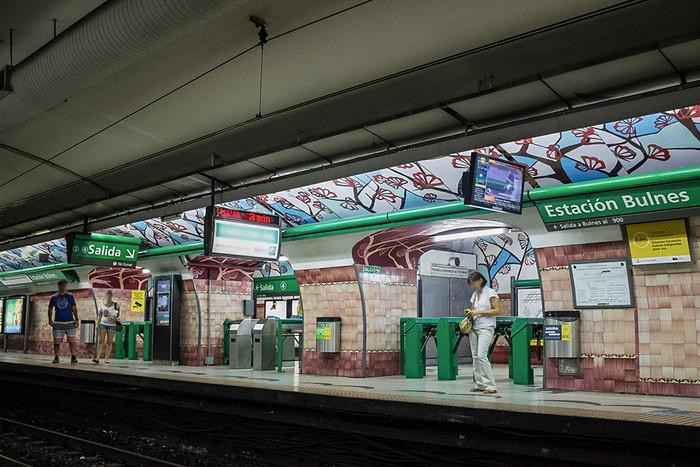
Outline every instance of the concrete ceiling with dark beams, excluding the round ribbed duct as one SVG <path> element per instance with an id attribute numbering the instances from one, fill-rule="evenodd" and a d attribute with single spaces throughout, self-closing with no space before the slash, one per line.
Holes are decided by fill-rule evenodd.
<path id="1" fill-rule="evenodd" d="M 2 1 L 0 27 L 56 3 L 100 2 Z M 0 247 L 201 206 L 212 178 L 240 199 L 694 104 L 697 17 L 692 0 L 244 2 L 0 126 Z"/>

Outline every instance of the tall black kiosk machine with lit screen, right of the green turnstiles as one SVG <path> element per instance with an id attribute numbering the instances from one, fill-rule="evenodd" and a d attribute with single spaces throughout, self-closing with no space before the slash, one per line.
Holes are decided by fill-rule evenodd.
<path id="1" fill-rule="evenodd" d="M 180 284 L 179 275 L 153 278 L 153 360 L 180 361 Z"/>

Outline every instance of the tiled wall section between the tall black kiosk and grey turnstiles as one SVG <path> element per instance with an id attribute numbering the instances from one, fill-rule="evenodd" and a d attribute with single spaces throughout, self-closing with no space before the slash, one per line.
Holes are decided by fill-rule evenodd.
<path id="1" fill-rule="evenodd" d="M 207 284 L 209 282 L 209 284 Z M 211 307 L 207 314 L 207 287 Z M 199 293 L 202 314 L 202 341 L 200 361 L 197 361 L 197 299 L 194 287 Z M 243 319 L 243 300 L 251 298 L 252 282 L 194 279 L 182 281 L 182 304 L 180 316 L 180 364 L 203 365 L 209 352 L 214 356 L 214 364 L 223 364 L 223 323 L 226 319 Z M 207 336 L 207 316 L 211 334 Z"/>

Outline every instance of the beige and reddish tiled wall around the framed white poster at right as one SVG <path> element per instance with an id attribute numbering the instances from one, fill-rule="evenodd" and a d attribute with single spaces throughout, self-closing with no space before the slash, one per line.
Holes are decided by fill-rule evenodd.
<path id="1" fill-rule="evenodd" d="M 697 219 L 692 224 L 697 249 Z M 629 256 L 623 241 L 540 248 L 536 253 L 545 310 L 574 309 L 569 261 Z M 633 268 L 637 308 L 581 310 L 581 374 L 559 376 L 550 361 L 546 386 L 700 395 L 700 289 L 692 285 L 698 279 L 696 264 Z"/>

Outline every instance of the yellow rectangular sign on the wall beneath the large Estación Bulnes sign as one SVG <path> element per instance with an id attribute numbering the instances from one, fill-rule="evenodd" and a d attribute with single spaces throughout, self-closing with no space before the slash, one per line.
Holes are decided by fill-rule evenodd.
<path id="1" fill-rule="evenodd" d="M 691 261 L 685 220 L 629 224 L 626 228 L 633 265 Z"/>

